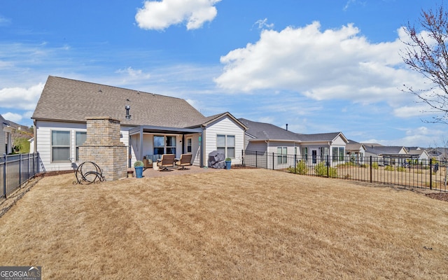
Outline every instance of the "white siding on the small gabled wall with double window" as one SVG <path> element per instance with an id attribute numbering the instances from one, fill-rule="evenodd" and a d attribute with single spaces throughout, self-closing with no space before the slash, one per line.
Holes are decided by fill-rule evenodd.
<path id="1" fill-rule="evenodd" d="M 241 126 L 226 116 L 207 126 L 207 129 L 204 132 L 204 165 L 207 166 L 209 164 L 209 153 L 216 151 L 216 137 L 218 134 L 235 135 L 235 158 L 232 158 L 232 164 L 241 163 L 241 151 L 244 148 L 244 130 Z M 204 139 L 202 139 L 202 141 L 204 141 Z"/>

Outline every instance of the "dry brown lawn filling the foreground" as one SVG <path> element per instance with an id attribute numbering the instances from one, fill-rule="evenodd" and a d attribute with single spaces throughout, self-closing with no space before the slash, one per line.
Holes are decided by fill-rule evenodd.
<path id="1" fill-rule="evenodd" d="M 0 265 L 43 279 L 447 279 L 448 203 L 232 169 L 73 186 L 45 177 L 0 218 Z"/>

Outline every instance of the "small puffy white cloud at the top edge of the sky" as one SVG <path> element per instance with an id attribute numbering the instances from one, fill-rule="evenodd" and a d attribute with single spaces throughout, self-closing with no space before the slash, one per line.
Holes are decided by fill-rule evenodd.
<path id="1" fill-rule="evenodd" d="M 141 29 L 163 30 L 186 22 L 187 29 L 198 29 L 218 14 L 215 4 L 221 0 L 145 1 L 135 20 Z"/>

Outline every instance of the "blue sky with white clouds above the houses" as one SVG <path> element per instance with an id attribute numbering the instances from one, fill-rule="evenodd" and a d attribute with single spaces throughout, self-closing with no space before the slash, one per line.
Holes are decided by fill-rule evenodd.
<path id="1" fill-rule="evenodd" d="M 0 114 L 32 125 L 48 76 L 186 99 L 297 133 L 442 145 L 402 92 L 401 27 L 440 1 L 1 1 Z"/>

